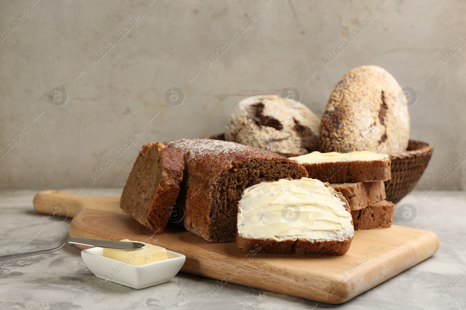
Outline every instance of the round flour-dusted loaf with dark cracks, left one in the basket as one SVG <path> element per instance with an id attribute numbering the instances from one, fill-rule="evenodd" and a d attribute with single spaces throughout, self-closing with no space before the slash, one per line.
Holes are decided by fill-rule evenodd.
<path id="1" fill-rule="evenodd" d="M 225 128 L 225 139 L 285 156 L 319 148 L 319 118 L 300 102 L 286 105 L 277 95 L 241 100 Z"/>

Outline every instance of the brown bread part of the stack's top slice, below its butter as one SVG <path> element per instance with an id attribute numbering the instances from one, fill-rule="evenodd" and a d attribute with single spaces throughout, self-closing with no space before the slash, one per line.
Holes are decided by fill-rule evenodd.
<path id="1" fill-rule="evenodd" d="M 372 182 L 391 179 L 391 160 L 346 161 L 321 164 L 304 164 L 309 178 L 322 182 Z"/>

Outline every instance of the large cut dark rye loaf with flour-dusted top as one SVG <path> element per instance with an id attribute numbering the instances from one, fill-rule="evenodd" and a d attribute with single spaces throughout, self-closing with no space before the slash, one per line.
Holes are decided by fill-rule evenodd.
<path id="1" fill-rule="evenodd" d="M 306 169 L 273 152 L 229 141 L 179 139 L 166 142 L 184 154 L 177 203 L 183 225 L 212 242 L 235 241 L 237 205 L 243 191 L 263 181 L 307 177 Z"/>

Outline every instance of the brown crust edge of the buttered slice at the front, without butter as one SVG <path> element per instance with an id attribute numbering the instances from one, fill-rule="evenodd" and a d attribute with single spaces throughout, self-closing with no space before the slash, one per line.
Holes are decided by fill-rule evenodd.
<path id="1" fill-rule="evenodd" d="M 324 183 L 324 185 L 330 187 L 329 183 Z M 336 197 L 345 202 L 345 210 L 350 212 L 348 201 L 340 192 L 333 191 Z M 351 224 L 353 224 L 352 220 Z M 243 237 L 238 234 L 238 227 L 236 228 L 236 245 L 242 251 L 257 251 L 261 254 L 343 255 L 348 252 L 353 237 L 354 235 L 348 236 L 342 241 L 301 240 L 299 238 L 296 240 L 275 241 Z"/>

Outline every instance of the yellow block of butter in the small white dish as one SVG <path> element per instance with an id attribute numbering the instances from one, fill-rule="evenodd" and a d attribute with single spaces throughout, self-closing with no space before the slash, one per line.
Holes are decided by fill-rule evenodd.
<path id="1" fill-rule="evenodd" d="M 145 246 L 142 249 L 133 251 L 103 248 L 103 257 L 115 259 L 133 266 L 155 263 L 167 259 L 167 250 L 160 246 L 147 244 L 141 241 L 132 241 L 129 239 L 123 239 L 120 241 L 139 242 Z"/>

